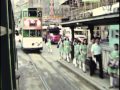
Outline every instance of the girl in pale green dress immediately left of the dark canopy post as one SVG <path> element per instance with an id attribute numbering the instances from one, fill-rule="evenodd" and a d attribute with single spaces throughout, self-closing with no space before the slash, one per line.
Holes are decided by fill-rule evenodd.
<path id="1" fill-rule="evenodd" d="M 64 52 L 65 52 L 65 57 L 67 61 L 70 62 L 71 45 L 68 38 L 64 40 Z"/>

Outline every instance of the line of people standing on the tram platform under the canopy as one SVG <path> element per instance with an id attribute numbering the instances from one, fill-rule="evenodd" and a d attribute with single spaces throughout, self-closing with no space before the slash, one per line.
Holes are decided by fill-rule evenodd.
<path id="1" fill-rule="evenodd" d="M 60 52 L 60 60 L 70 62 L 71 44 L 74 45 L 74 59 L 73 64 L 79 67 L 84 73 L 87 71 L 86 65 L 88 64 L 90 76 L 95 74 L 97 65 L 99 65 L 99 77 L 104 78 L 103 60 L 102 60 L 102 47 L 100 45 L 100 38 L 92 38 L 91 43 L 87 43 L 84 39 L 82 42 L 74 40 L 73 43 L 68 38 L 61 38 L 58 43 Z M 72 61 L 72 60 L 71 60 Z M 109 62 L 107 68 L 110 75 L 110 88 L 114 88 L 117 84 L 115 78 L 119 78 L 119 45 L 114 45 L 114 50 L 109 54 Z"/>

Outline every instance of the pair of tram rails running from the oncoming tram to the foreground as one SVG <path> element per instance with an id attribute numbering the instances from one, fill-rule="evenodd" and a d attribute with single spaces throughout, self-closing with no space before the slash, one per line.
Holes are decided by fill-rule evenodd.
<path id="1" fill-rule="evenodd" d="M 36 63 L 33 62 L 33 59 L 31 57 L 32 54 L 28 54 L 29 58 L 30 58 L 30 63 L 32 65 L 32 67 L 35 69 L 36 73 L 39 73 L 38 74 L 38 77 L 39 77 L 39 80 L 42 81 L 44 87 L 45 87 L 45 90 L 51 90 L 50 86 L 48 85 L 48 82 L 45 80 L 44 78 L 44 74 L 42 74 L 42 70 L 40 68 L 37 67 Z M 39 54 L 38 54 L 39 55 Z M 70 88 L 74 88 L 74 90 L 80 90 L 79 88 L 77 88 L 75 85 L 73 85 L 69 80 L 68 78 L 61 74 L 61 72 L 56 69 L 56 67 L 51 63 L 49 62 L 44 56 L 42 55 L 39 55 L 43 60 L 45 60 L 45 62 L 47 62 L 56 72 L 57 74 L 59 74 L 60 77 L 62 77 L 62 79 L 64 80 L 64 82 L 66 82 L 66 85 L 69 86 Z M 49 59 L 52 59 L 52 58 L 49 58 Z M 72 89 L 73 90 L 73 89 Z"/>

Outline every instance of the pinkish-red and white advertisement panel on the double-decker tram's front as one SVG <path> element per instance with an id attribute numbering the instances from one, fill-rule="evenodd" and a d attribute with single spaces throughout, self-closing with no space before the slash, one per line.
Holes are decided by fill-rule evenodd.
<path id="1" fill-rule="evenodd" d="M 39 18 L 24 18 L 23 29 L 42 29 L 42 20 Z"/>

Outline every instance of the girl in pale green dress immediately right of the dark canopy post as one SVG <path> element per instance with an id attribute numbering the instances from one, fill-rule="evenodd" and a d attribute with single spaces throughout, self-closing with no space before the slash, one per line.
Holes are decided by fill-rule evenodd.
<path id="1" fill-rule="evenodd" d="M 73 59 L 73 64 L 75 65 L 75 67 L 77 67 L 77 61 L 78 61 L 78 56 L 79 56 L 79 42 L 75 41 L 74 42 L 74 59 Z"/>

